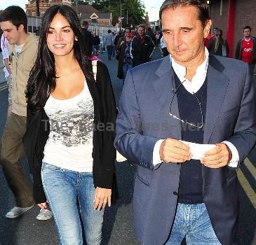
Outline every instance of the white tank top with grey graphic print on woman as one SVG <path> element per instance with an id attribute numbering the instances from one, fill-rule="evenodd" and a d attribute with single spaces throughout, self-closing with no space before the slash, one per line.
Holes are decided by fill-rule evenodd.
<path id="1" fill-rule="evenodd" d="M 50 95 L 44 106 L 50 134 L 43 162 L 76 172 L 93 172 L 93 98 L 84 82 L 80 94 L 71 99 Z"/>

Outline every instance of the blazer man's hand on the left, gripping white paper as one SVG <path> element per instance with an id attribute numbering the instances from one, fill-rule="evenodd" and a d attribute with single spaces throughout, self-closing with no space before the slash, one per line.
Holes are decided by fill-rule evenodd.
<path id="1" fill-rule="evenodd" d="M 159 153 L 163 162 L 186 162 L 192 156 L 189 146 L 172 138 L 162 142 Z"/>

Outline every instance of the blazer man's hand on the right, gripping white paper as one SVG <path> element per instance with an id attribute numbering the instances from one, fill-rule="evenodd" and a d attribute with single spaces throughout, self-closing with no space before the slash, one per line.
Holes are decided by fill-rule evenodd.
<path id="1" fill-rule="evenodd" d="M 215 148 L 206 151 L 206 156 L 201 159 L 201 163 L 206 167 L 217 169 L 226 166 L 232 158 L 229 147 L 224 143 L 216 144 Z"/>

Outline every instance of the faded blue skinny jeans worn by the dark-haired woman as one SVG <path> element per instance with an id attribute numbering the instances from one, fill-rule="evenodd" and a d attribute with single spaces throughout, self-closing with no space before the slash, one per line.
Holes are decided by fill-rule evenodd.
<path id="1" fill-rule="evenodd" d="M 93 174 L 61 169 L 43 162 L 41 177 L 57 226 L 60 244 L 82 245 L 84 228 L 86 244 L 100 245 L 104 210 L 93 209 Z"/>

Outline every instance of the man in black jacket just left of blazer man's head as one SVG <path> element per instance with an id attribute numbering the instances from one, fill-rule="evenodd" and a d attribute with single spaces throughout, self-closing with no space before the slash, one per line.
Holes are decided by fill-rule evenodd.
<path id="1" fill-rule="evenodd" d="M 150 36 L 145 35 L 145 26 L 140 25 L 130 45 L 130 57 L 133 59 L 133 67 L 149 62 L 154 50 L 154 43 Z"/>

